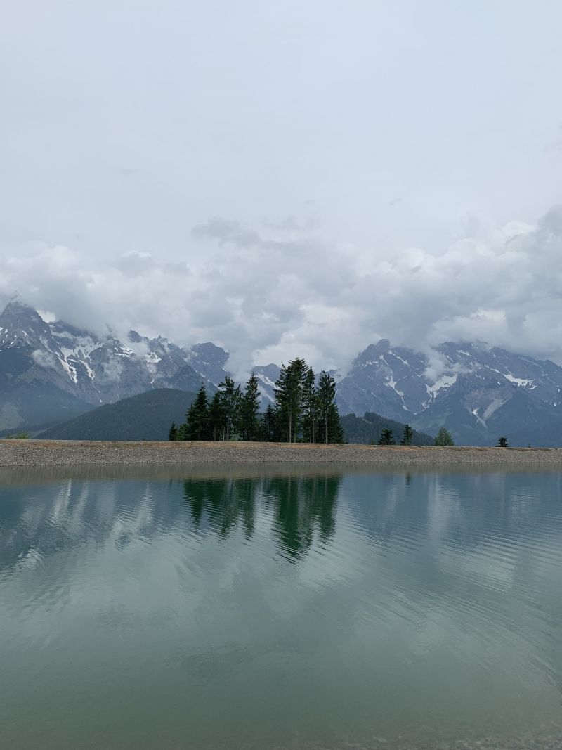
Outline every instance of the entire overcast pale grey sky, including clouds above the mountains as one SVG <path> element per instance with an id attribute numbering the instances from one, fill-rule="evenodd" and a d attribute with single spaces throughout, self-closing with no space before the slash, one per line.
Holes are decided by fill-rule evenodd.
<path id="1" fill-rule="evenodd" d="M 562 364 L 562 4 L 21 0 L 0 303 L 214 341 Z"/>

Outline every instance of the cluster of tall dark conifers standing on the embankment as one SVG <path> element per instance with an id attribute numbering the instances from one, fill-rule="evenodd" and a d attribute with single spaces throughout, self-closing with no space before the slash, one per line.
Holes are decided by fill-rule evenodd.
<path id="1" fill-rule="evenodd" d="M 183 425 L 170 440 L 264 440 L 286 443 L 343 443 L 336 407 L 336 381 L 322 371 L 318 383 L 303 359 L 281 368 L 275 404 L 260 412 L 259 381 L 252 374 L 245 389 L 226 376 L 211 401 L 202 384 Z"/>

